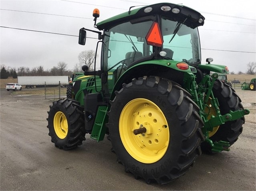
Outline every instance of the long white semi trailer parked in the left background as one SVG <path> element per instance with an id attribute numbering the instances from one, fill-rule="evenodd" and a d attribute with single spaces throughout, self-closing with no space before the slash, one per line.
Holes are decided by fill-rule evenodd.
<path id="1" fill-rule="evenodd" d="M 18 84 L 26 88 L 58 86 L 67 87 L 69 76 L 18 76 Z"/>

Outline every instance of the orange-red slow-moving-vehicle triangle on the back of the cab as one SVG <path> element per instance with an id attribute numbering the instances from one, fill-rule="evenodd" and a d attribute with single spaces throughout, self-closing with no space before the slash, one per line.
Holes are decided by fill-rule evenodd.
<path id="1" fill-rule="evenodd" d="M 153 22 L 149 32 L 146 35 L 148 45 L 161 47 L 163 45 L 163 37 L 157 22 Z"/>

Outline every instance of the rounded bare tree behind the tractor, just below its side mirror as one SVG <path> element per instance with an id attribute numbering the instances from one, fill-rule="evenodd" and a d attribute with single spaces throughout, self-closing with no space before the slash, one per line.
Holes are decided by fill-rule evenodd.
<path id="1" fill-rule="evenodd" d="M 96 55 L 97 57 L 98 55 Z M 95 51 L 94 50 L 85 50 L 79 53 L 78 55 L 79 64 L 87 65 L 89 70 L 93 70 L 93 64 L 95 61 Z"/>

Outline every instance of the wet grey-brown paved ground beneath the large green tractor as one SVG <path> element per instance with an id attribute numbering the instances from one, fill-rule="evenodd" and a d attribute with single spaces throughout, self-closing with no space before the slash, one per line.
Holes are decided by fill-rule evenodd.
<path id="1" fill-rule="evenodd" d="M 46 118 L 52 100 L 0 90 L 0 190 L 256 190 L 256 128 L 246 122 L 230 152 L 203 154 L 183 177 L 147 185 L 125 173 L 111 143 L 54 147 Z M 250 108 L 249 108 L 250 109 Z"/>

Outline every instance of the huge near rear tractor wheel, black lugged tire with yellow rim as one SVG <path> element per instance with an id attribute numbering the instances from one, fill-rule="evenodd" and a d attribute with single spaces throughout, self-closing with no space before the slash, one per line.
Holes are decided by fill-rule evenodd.
<path id="1" fill-rule="evenodd" d="M 167 79 L 142 77 L 115 94 L 107 113 L 108 139 L 125 171 L 160 184 L 184 175 L 204 139 L 189 93 Z"/>

